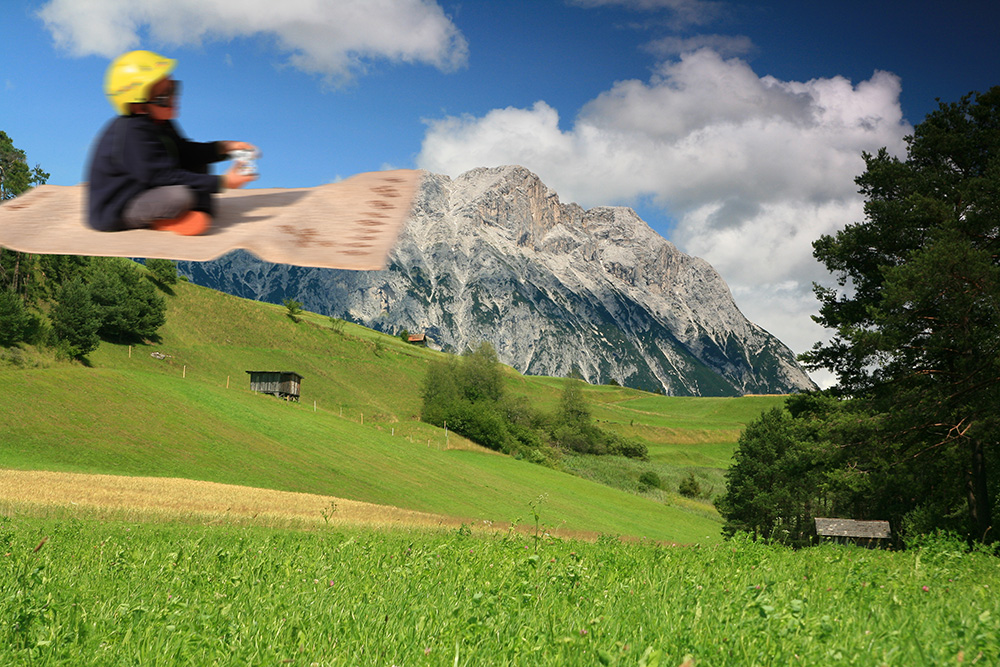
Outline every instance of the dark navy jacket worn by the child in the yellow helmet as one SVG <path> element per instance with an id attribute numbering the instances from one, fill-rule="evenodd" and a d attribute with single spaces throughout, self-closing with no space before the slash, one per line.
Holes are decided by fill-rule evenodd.
<path id="1" fill-rule="evenodd" d="M 225 159 L 218 144 L 189 141 L 171 122 L 119 116 L 98 138 L 88 174 L 88 222 L 101 231 L 122 229 L 122 211 L 136 196 L 164 185 L 187 185 L 196 210 L 211 213 L 220 177 L 208 165 Z"/>

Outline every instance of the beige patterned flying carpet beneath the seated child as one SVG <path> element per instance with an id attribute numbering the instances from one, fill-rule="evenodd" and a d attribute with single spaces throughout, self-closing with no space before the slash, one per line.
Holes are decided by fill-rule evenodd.
<path id="1" fill-rule="evenodd" d="M 216 195 L 212 228 L 202 236 L 99 232 L 84 219 L 85 185 L 41 185 L 0 205 L 0 246 L 43 255 L 192 261 L 244 249 L 276 264 L 381 269 L 422 177 L 405 169 L 314 188 L 230 190 Z"/>

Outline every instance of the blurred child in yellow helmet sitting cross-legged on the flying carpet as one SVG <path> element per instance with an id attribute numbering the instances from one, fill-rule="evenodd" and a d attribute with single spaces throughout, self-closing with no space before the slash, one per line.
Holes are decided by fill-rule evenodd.
<path id="1" fill-rule="evenodd" d="M 221 176 L 208 165 L 242 141 L 198 143 L 174 125 L 180 81 L 170 77 L 176 60 L 151 51 L 130 51 L 108 67 L 104 90 L 118 112 L 98 138 L 89 170 L 88 220 L 101 231 L 152 228 L 197 235 L 212 224 L 212 195 L 243 187 L 256 176 L 234 164 Z"/>

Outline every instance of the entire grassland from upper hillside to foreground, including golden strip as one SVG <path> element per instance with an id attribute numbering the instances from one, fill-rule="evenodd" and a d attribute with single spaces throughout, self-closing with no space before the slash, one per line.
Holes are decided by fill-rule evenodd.
<path id="1" fill-rule="evenodd" d="M 155 342 L 105 342 L 87 365 L 0 354 L 0 469 L 52 471 L 0 486 L 0 664 L 1000 662 L 994 556 L 945 537 L 897 553 L 721 539 L 710 499 L 740 429 L 781 397 L 586 387 L 650 461 L 548 468 L 419 421 L 437 352 L 171 292 Z M 301 402 L 252 393 L 248 370 L 303 375 Z M 506 378 L 559 400 L 558 378 Z M 676 492 L 689 475 L 696 497 Z M 150 478 L 204 497 L 83 502 L 143 498 Z M 268 514 L 291 496 L 297 513 Z"/>

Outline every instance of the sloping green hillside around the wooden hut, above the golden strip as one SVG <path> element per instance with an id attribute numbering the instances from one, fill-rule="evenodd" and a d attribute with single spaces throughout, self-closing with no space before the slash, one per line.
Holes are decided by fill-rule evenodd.
<path id="1" fill-rule="evenodd" d="M 705 543 L 719 537 L 718 516 L 704 498 L 679 497 L 678 479 L 695 471 L 721 490 L 740 425 L 781 400 L 587 387 L 601 425 L 642 439 L 652 461 L 577 460 L 572 476 L 420 422 L 437 352 L 183 282 L 167 302 L 154 344 L 105 342 L 89 367 L 37 355 L 0 363 L 0 468 L 182 478 L 470 523 L 524 520 L 526 501 L 548 494 L 553 527 L 569 533 Z M 246 371 L 265 369 L 303 375 L 301 403 L 251 393 Z M 538 405 L 558 401 L 559 379 L 507 378 Z M 665 489 L 637 486 L 647 468 Z"/>

